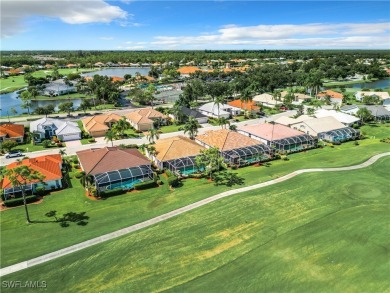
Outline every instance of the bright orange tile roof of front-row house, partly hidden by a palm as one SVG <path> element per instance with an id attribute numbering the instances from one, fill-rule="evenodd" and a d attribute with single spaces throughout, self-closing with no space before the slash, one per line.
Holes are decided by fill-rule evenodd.
<path id="1" fill-rule="evenodd" d="M 62 163 L 61 155 L 47 155 L 31 159 L 24 159 L 21 162 L 14 162 L 7 166 L 7 169 L 13 169 L 21 165 L 25 165 L 40 172 L 45 176 L 43 181 L 58 180 L 62 178 L 60 165 Z M 37 180 L 31 182 L 39 182 Z M 30 183 L 30 182 L 29 182 Z M 2 188 L 11 188 L 12 183 L 7 177 L 4 178 Z"/>

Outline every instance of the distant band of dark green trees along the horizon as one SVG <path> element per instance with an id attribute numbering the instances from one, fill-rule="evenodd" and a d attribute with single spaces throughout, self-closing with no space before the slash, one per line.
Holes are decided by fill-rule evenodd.
<path id="1" fill-rule="evenodd" d="M 33 56 L 51 56 L 53 59 L 38 60 Z M 204 65 L 207 60 L 230 62 L 232 59 L 250 59 L 246 63 L 261 62 L 269 58 L 284 58 L 286 60 L 308 60 L 315 58 L 343 58 L 347 62 L 356 59 L 390 60 L 389 50 L 203 50 L 203 51 L 2 51 L 2 66 L 17 67 L 22 64 L 36 65 L 68 63 L 80 64 L 80 67 L 90 67 L 96 62 L 113 63 L 165 63 L 173 65 L 193 62 L 194 65 Z M 58 60 L 59 59 L 59 60 Z M 253 61 L 257 59 L 258 61 Z"/>

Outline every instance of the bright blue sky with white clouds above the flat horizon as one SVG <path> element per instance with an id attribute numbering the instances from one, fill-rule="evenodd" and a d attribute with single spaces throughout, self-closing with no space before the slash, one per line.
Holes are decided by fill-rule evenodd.
<path id="1" fill-rule="evenodd" d="M 1 50 L 390 49 L 390 1 L 0 2 Z"/>

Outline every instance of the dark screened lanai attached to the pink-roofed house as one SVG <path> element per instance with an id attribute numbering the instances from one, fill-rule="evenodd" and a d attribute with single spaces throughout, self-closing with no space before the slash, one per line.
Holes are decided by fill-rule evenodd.
<path id="1" fill-rule="evenodd" d="M 279 151 L 294 152 L 316 147 L 317 139 L 311 135 L 303 134 L 273 140 L 270 144 Z"/>

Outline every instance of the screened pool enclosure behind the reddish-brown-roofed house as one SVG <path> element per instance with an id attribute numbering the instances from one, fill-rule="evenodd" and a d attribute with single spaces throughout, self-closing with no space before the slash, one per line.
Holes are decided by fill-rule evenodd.
<path id="1" fill-rule="evenodd" d="M 93 175 L 98 192 L 112 189 L 132 189 L 134 184 L 152 180 L 150 165 L 142 165 Z"/>

